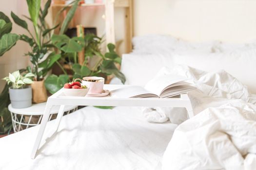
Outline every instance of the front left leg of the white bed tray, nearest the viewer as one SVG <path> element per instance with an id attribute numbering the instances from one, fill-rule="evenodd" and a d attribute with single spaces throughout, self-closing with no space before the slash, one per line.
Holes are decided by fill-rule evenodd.
<path id="1" fill-rule="evenodd" d="M 49 119 L 49 116 L 50 116 L 51 107 L 52 107 L 52 105 L 50 105 L 50 104 L 47 102 L 47 103 L 46 103 L 45 110 L 44 110 L 44 113 L 43 113 L 43 118 L 42 118 L 42 121 L 41 121 L 41 124 L 40 124 L 40 127 L 39 127 L 39 132 L 38 132 L 38 135 L 37 135 L 37 138 L 36 138 L 34 147 L 33 147 L 33 149 L 32 149 L 32 153 L 31 153 L 31 158 L 32 158 L 32 159 L 35 158 L 36 153 L 37 153 L 37 151 L 38 151 L 38 148 L 39 148 L 39 145 L 40 145 L 40 142 L 41 142 L 43 133 L 44 133 L 44 129 L 45 129 L 45 127 L 46 127 L 46 124 L 47 124 L 48 119 Z"/>

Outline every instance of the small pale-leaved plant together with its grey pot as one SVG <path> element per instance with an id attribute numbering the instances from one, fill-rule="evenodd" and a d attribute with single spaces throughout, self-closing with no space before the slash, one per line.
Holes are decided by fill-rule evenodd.
<path id="1" fill-rule="evenodd" d="M 32 105 L 32 89 L 31 80 L 35 77 L 32 73 L 21 75 L 20 71 L 14 71 L 9 73 L 8 77 L 3 78 L 7 82 L 9 87 L 9 95 L 13 108 L 25 108 Z"/>

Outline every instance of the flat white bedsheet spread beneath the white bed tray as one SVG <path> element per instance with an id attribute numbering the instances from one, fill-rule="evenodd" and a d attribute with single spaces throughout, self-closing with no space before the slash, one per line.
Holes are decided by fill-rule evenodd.
<path id="1" fill-rule="evenodd" d="M 38 126 L 0 138 L 0 170 L 158 170 L 176 127 L 147 122 L 137 107 L 85 107 L 62 118 L 34 160 Z"/>

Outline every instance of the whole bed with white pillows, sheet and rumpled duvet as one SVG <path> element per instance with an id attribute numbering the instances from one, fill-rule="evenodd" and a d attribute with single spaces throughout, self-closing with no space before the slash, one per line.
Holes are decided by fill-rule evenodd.
<path id="1" fill-rule="evenodd" d="M 163 73 L 187 76 L 197 86 L 197 91 L 189 93 L 197 114 L 195 118 L 186 120 L 187 113 L 182 108 L 85 107 L 63 117 L 57 135 L 47 139 L 47 145 L 34 160 L 30 159 L 30 153 L 38 126 L 1 138 L 0 146 L 4 147 L 1 147 L 0 169 L 235 170 L 230 165 L 239 165 L 242 168 L 237 170 L 253 170 L 256 166 L 255 44 L 189 43 L 164 35 L 135 37 L 133 43 L 134 51 L 122 57 L 121 71 L 126 84 L 145 85 Z M 239 61 L 235 67 L 234 61 Z M 229 109 L 227 113 L 233 109 L 236 119 L 229 115 L 226 119 L 221 117 L 223 109 Z M 162 123 L 150 123 L 152 118 L 166 119 Z M 210 126 L 214 124 L 212 121 L 220 126 Z M 233 127 L 225 126 L 227 121 L 234 125 L 241 123 L 240 136 L 236 136 L 236 128 L 224 128 Z M 46 135 L 53 124 L 54 120 L 47 126 Z M 209 125 L 214 136 L 203 125 Z M 222 136 L 220 145 L 216 145 L 215 132 L 219 131 L 223 133 L 217 136 L 228 135 Z M 248 143 L 244 145 L 246 140 Z M 213 152 L 209 146 L 233 151 L 234 159 L 223 163 L 226 160 L 221 157 L 223 154 Z M 233 158 L 226 153 L 226 157 Z M 248 159 L 246 155 L 250 155 Z"/>

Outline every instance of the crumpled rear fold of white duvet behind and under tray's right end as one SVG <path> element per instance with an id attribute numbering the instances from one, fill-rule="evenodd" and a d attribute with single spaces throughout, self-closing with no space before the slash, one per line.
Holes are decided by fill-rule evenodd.
<path id="1" fill-rule="evenodd" d="M 250 94 L 247 87 L 224 70 L 205 72 L 188 66 L 177 65 L 173 69 L 162 68 L 158 75 L 179 74 L 189 79 L 197 87 L 188 93 L 194 114 L 211 106 L 220 106 L 230 99 L 256 103 L 256 95 Z M 157 76 L 158 76 L 157 75 Z M 162 123 L 170 120 L 180 124 L 187 119 L 185 108 L 143 108 L 145 119 L 149 122 Z"/>

